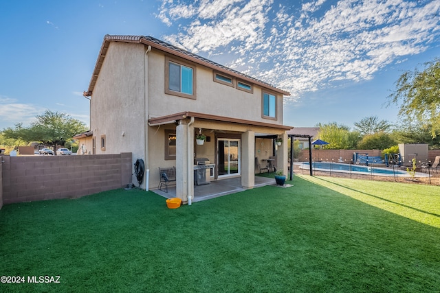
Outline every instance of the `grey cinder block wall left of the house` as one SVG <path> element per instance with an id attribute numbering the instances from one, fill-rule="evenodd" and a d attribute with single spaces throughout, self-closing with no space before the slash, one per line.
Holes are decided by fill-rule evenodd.
<path id="1" fill-rule="evenodd" d="M 79 198 L 130 183 L 131 153 L 3 156 L 3 204 Z"/>

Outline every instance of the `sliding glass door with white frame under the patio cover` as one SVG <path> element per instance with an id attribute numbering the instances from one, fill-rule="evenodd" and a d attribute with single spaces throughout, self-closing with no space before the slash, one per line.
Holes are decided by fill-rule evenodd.
<path id="1" fill-rule="evenodd" d="M 219 176 L 241 174 L 240 139 L 218 139 Z"/>

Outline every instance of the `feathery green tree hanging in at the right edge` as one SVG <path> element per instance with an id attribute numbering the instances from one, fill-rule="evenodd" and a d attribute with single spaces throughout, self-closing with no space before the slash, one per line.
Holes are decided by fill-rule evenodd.
<path id="1" fill-rule="evenodd" d="M 400 115 L 432 125 L 431 136 L 440 130 L 440 58 L 426 62 L 425 69 L 406 71 L 388 96 L 390 104 L 400 104 Z"/>

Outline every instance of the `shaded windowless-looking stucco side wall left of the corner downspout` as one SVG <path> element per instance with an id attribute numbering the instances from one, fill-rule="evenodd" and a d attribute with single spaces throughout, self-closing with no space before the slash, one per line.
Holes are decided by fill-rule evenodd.
<path id="1" fill-rule="evenodd" d="M 133 164 L 145 161 L 144 58 L 144 45 L 110 44 L 91 97 L 96 154 L 131 152 Z M 102 135 L 105 150 L 100 148 Z"/>

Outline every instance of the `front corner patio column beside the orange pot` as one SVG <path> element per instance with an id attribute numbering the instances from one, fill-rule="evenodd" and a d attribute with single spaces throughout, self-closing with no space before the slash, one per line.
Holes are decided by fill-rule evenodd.
<path id="1" fill-rule="evenodd" d="M 189 167 L 192 169 L 193 137 L 194 127 L 188 127 L 188 122 L 181 120 L 176 127 L 176 196 L 183 202 L 188 202 L 188 192 L 194 193 L 194 174 L 188 174 Z"/>

